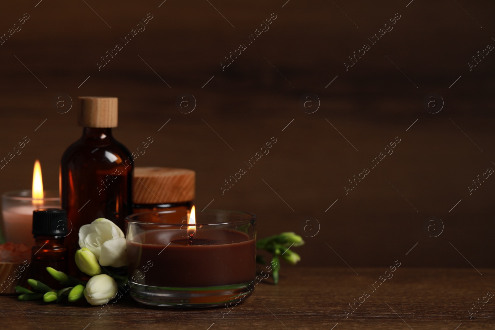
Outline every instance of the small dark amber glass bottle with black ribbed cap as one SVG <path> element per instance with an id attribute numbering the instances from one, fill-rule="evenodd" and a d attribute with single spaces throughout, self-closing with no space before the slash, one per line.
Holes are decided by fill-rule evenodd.
<path id="1" fill-rule="evenodd" d="M 31 248 L 31 278 L 47 284 L 52 289 L 61 289 L 47 267 L 67 273 L 67 248 L 63 241 L 67 230 L 67 213 L 62 209 L 38 209 L 33 212 L 33 236 Z"/>

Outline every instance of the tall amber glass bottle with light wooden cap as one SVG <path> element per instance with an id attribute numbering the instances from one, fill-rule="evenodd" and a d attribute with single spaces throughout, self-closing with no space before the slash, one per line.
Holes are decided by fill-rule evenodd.
<path id="1" fill-rule="evenodd" d="M 79 248 L 79 228 L 98 218 L 113 221 L 125 232 L 124 219 L 132 209 L 134 159 L 112 136 L 117 127 L 116 97 L 79 97 L 83 136 L 67 148 L 60 164 L 60 196 L 67 211 L 69 255 Z M 72 225 L 72 227 L 71 227 Z M 69 258 L 69 274 L 77 267 Z"/>

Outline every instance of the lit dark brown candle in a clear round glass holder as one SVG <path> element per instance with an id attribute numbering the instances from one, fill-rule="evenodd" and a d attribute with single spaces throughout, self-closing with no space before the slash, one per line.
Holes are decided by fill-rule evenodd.
<path id="1" fill-rule="evenodd" d="M 177 213 L 182 224 L 176 223 Z M 134 299 L 152 306 L 201 308 L 251 293 L 255 216 L 234 211 L 196 216 L 193 207 L 191 212 L 127 217 L 128 285 Z"/>

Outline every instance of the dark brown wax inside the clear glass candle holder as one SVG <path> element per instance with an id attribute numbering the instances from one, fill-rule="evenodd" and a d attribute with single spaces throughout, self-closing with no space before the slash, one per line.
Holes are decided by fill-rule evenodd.
<path id="1" fill-rule="evenodd" d="M 140 284 L 160 287 L 204 287 L 251 282 L 255 277 L 254 239 L 231 229 L 149 230 L 127 241 L 128 275 L 145 266 Z"/>

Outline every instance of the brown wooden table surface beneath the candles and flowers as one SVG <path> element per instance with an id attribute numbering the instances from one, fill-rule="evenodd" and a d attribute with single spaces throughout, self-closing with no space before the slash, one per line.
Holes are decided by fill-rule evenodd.
<path id="1" fill-rule="evenodd" d="M 399 267 L 376 291 L 383 268 L 304 268 L 284 265 L 280 283 L 261 282 L 246 302 L 229 310 L 176 311 L 119 300 L 106 313 L 77 304 L 22 302 L 0 296 L 0 329 L 494 329 L 495 270 Z M 478 272 L 479 271 L 479 272 Z M 356 275 L 359 274 L 359 275 Z M 387 273 L 389 274 L 389 273 Z M 483 274 L 483 275 L 480 275 Z M 388 275 L 390 277 L 390 275 Z M 350 311 L 364 291 L 370 296 Z M 495 299 L 493 299 L 495 300 Z M 334 327 L 334 328 L 332 328 Z M 458 327 L 458 328 L 456 328 Z"/>

